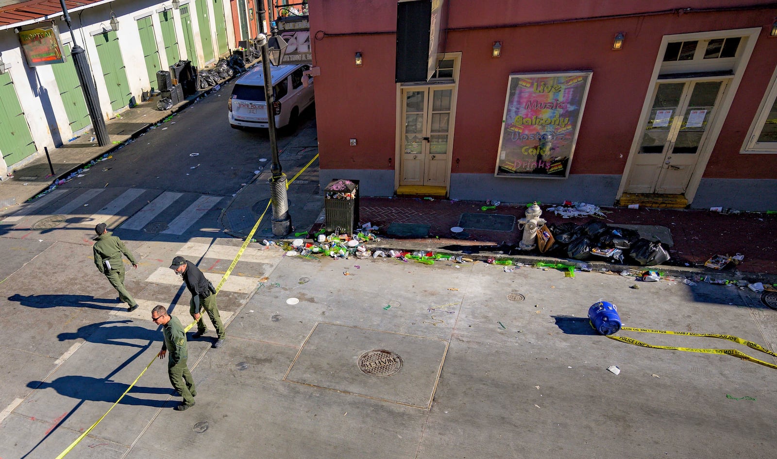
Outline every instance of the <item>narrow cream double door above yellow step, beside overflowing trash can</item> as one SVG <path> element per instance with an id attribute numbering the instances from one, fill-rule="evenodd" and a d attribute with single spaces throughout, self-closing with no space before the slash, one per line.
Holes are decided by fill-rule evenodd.
<path id="1" fill-rule="evenodd" d="M 400 185 L 448 186 L 453 87 L 402 90 Z"/>

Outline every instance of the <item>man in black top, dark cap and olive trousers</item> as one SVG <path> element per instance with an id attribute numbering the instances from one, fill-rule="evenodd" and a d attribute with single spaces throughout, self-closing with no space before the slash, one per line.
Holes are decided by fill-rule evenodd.
<path id="1" fill-rule="evenodd" d="M 221 323 L 221 315 L 216 307 L 216 289 L 205 278 L 200 268 L 184 259 L 183 256 L 176 256 L 176 258 L 172 259 L 170 269 L 183 277 L 186 288 L 192 294 L 192 299 L 189 301 L 189 314 L 197 321 L 197 333 L 194 333 L 193 337 L 199 338 L 206 331 L 205 321 L 202 318 L 202 314 L 200 314 L 200 308 L 202 308 L 207 312 L 207 316 L 211 318 L 211 322 L 213 322 L 213 326 L 218 334 L 218 339 L 213 343 L 213 347 L 221 347 L 224 344 L 224 339 L 227 337 L 227 332 L 224 329 L 224 324 Z"/>

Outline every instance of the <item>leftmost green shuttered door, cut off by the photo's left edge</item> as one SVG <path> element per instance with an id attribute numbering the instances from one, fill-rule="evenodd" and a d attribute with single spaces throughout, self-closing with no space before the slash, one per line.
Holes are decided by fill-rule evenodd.
<path id="1" fill-rule="evenodd" d="M 16 164 L 36 151 L 8 72 L 0 75 L 0 151 L 6 165 Z"/>

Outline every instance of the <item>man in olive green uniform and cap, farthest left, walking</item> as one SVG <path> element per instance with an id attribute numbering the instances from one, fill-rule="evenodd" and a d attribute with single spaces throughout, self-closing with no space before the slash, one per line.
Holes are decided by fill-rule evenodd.
<path id="1" fill-rule="evenodd" d="M 119 299 L 127 303 L 127 312 L 132 312 L 138 308 L 138 303 L 124 288 L 124 261 L 121 259 L 121 255 L 124 254 L 135 269 L 138 269 L 138 263 L 135 262 L 135 257 L 127 250 L 124 242 L 108 231 L 106 224 L 98 224 L 95 227 L 95 232 L 97 237 L 94 239 L 96 242 L 92 247 L 95 265 L 100 273 L 105 274 L 113 288 L 119 292 Z"/>

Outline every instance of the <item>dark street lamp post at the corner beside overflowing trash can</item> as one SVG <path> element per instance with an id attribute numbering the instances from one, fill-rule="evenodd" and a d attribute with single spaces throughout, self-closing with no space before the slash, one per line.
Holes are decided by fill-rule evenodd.
<path id="1" fill-rule="evenodd" d="M 277 29 L 273 30 L 274 32 Z M 277 39 L 277 40 L 273 40 Z M 286 42 L 278 37 L 271 37 L 273 41 L 274 53 L 277 57 L 277 64 L 280 64 L 284 53 L 286 52 Z M 273 163 L 270 165 L 270 202 L 273 204 L 273 235 L 285 236 L 291 232 L 291 216 L 289 215 L 289 201 L 286 194 L 286 176 L 280 168 L 278 160 L 278 140 L 275 130 L 275 91 L 273 89 L 272 68 L 270 67 L 270 40 L 267 36 L 260 33 L 256 36 L 256 46 L 262 52 L 262 73 L 264 74 L 264 101 L 267 107 L 267 134 L 270 137 L 270 153 L 273 157 Z M 273 62 L 275 64 L 275 62 Z"/>

